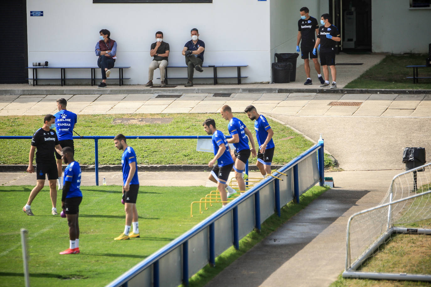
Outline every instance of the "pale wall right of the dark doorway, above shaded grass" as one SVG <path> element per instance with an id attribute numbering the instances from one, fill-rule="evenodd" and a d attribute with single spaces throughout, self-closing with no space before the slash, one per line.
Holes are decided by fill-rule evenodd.
<path id="1" fill-rule="evenodd" d="M 431 9 L 409 9 L 409 1 L 373 0 L 373 52 L 428 54 L 430 20 Z"/>

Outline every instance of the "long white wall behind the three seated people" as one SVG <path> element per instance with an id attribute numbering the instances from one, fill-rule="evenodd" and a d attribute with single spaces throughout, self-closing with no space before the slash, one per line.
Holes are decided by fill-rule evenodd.
<path id="1" fill-rule="evenodd" d="M 30 11 L 44 11 L 44 16 L 31 17 Z M 152 60 L 150 45 L 155 42 L 155 32 L 162 31 L 170 45 L 169 65 L 185 65 L 181 51 L 184 43 L 191 39 L 191 28 L 198 28 L 200 39 L 206 45 L 204 65 L 247 64 L 247 68 L 241 68 L 241 75 L 249 76 L 243 83 L 269 81 L 268 15 L 269 1 L 257 0 L 133 4 L 28 0 L 28 64 L 48 61 L 50 66 L 97 65 L 94 47 L 99 31 L 105 28 L 117 41 L 116 65 L 131 66 L 124 71 L 125 77 L 131 77 L 125 83 L 144 84 L 148 80 L 148 65 Z M 114 71 L 111 76 L 117 77 Z M 66 70 L 66 73 L 67 77 L 90 76 L 87 70 Z M 187 71 L 183 68 L 174 74 L 170 72 L 170 75 L 175 74 L 187 76 Z M 204 69 L 203 74 L 212 76 L 209 69 Z M 219 76 L 225 74 L 236 75 L 236 68 L 218 70 Z M 100 70 L 96 75 L 100 77 Z M 38 73 L 38 77 L 50 76 L 59 77 L 59 71 Z M 159 77 L 159 70 L 155 71 L 154 80 L 156 77 Z M 228 83 L 236 83 L 236 80 Z"/>

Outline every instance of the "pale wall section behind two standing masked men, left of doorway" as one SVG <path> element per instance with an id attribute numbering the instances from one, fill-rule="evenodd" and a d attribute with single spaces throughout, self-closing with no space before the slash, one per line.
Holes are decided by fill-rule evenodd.
<path id="1" fill-rule="evenodd" d="M 271 25 L 271 54 L 270 62 L 274 62 L 275 53 L 296 53 L 298 20 L 300 9 L 307 7 L 309 15 L 318 20 L 320 15 L 328 13 L 329 2 L 327 0 L 270 0 L 270 25 Z M 304 61 L 299 56 L 297 66 Z"/>

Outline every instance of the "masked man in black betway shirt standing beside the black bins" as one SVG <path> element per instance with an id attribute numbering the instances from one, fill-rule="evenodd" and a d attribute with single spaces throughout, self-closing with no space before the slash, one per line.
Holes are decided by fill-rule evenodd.
<path id="1" fill-rule="evenodd" d="M 319 25 L 315 18 L 308 15 L 309 9 L 307 7 L 302 7 L 299 11 L 301 19 L 298 21 L 297 52 L 301 52 L 301 59 L 304 59 L 305 74 L 307 76 L 304 85 L 312 85 L 310 61 L 308 57 L 312 59 L 317 72 L 317 78 L 320 83 L 323 84 L 325 80 L 323 80 L 322 74 L 320 74 L 319 61 L 317 61 L 317 55 L 313 54 L 315 35 L 319 33 Z M 299 49 L 299 42 L 301 42 L 301 49 Z"/>

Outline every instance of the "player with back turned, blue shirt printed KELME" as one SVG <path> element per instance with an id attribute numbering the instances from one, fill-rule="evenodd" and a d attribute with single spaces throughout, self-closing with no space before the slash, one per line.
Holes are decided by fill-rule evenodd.
<path id="1" fill-rule="evenodd" d="M 57 100 L 58 112 L 54 114 L 55 117 L 55 129 L 58 137 L 59 144 L 62 148 L 66 146 L 72 148 L 75 153 L 75 147 L 73 145 L 73 128 L 77 120 L 75 113 L 66 110 L 67 101 L 64 98 Z M 58 171 L 58 189 L 63 188 L 62 170 L 61 170 L 61 155 L 55 152 L 57 159 L 57 171 Z"/>

